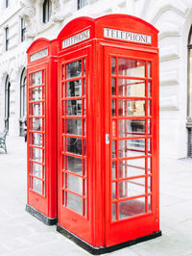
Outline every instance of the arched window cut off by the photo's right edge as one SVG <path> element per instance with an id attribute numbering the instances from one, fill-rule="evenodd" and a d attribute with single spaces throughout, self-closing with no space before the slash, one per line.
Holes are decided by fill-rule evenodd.
<path id="1" fill-rule="evenodd" d="M 187 90 L 187 124 L 188 157 L 192 158 L 192 27 L 188 38 L 188 90 Z"/>

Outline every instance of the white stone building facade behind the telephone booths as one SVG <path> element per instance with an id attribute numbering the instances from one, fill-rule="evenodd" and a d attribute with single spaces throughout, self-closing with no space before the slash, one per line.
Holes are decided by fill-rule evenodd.
<path id="1" fill-rule="evenodd" d="M 191 0 L 2 0 L 0 131 L 7 127 L 10 135 L 22 135 L 26 50 L 30 44 L 36 38 L 56 38 L 71 19 L 94 13 L 132 14 L 159 30 L 160 155 L 187 157 L 192 143 L 192 57 L 187 46 L 192 25 Z"/>

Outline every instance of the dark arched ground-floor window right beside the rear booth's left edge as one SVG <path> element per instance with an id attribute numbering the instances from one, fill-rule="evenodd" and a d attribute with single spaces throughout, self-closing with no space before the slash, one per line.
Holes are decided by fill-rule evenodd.
<path id="1" fill-rule="evenodd" d="M 27 118 L 27 92 L 26 92 L 26 69 L 23 68 L 20 79 L 20 119 L 19 119 L 19 131 L 20 136 L 24 135 L 23 128 Z"/>

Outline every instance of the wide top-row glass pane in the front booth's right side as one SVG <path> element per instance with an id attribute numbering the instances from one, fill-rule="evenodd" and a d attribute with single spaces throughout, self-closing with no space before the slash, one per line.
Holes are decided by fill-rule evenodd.
<path id="1" fill-rule="evenodd" d="M 119 75 L 131 77 L 145 77 L 145 62 L 119 58 Z"/>

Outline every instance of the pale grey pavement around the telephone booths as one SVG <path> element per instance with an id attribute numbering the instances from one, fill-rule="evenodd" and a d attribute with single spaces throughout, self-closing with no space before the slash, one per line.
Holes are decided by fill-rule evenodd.
<path id="1" fill-rule="evenodd" d="M 0 149 L 0 255 L 85 256 L 84 249 L 25 212 L 26 144 L 8 137 Z M 192 160 L 160 160 L 160 229 L 162 236 L 108 255 L 192 256 Z"/>

